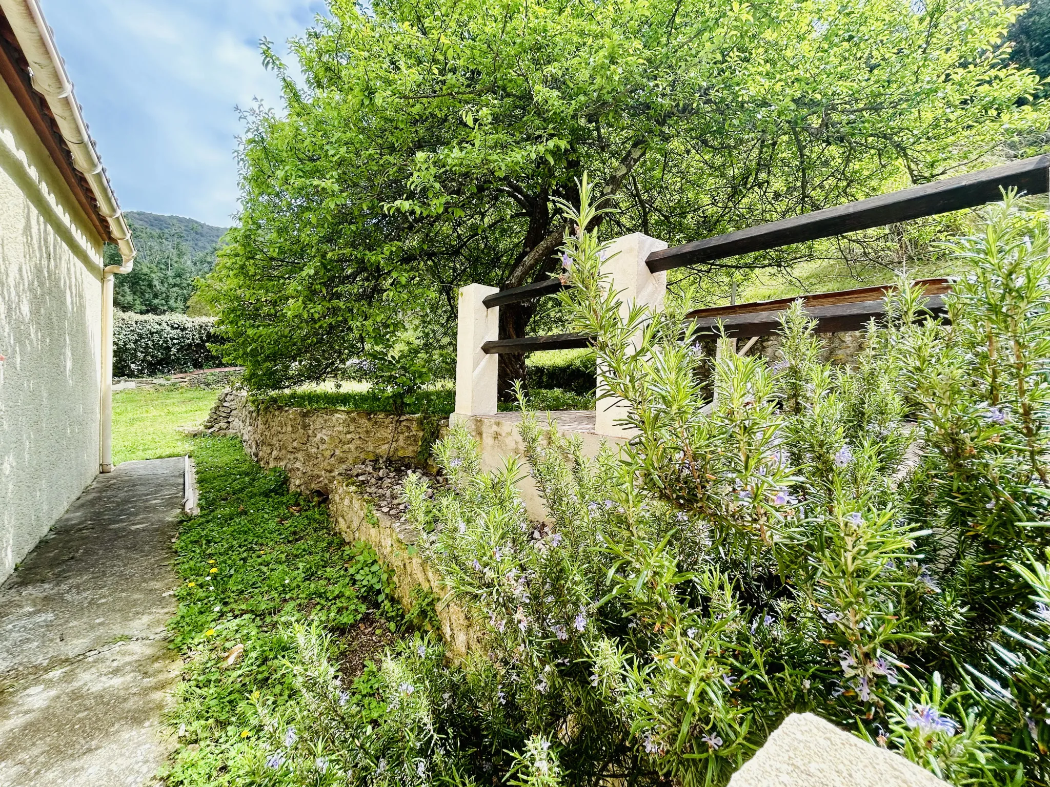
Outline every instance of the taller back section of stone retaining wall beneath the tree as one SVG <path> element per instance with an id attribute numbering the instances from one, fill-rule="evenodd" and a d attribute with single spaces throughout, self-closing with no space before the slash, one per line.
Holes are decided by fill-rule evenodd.
<path id="1" fill-rule="evenodd" d="M 434 424 L 432 422 L 432 435 Z M 437 424 L 437 437 L 448 420 Z M 257 407 L 244 390 L 227 388 L 205 421 L 213 434 L 237 434 L 245 450 L 262 467 L 280 467 L 292 488 L 331 495 L 333 484 L 363 460 L 414 460 L 427 439 L 422 416 L 392 416 L 302 407 Z"/>

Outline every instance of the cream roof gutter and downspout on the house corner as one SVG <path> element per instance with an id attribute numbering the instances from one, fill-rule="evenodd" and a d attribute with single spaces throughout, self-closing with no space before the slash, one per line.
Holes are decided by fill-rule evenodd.
<path id="1" fill-rule="evenodd" d="M 99 153 L 87 131 L 87 124 L 72 91 L 72 83 L 55 45 L 51 29 L 47 26 L 37 0 L 0 0 L 0 9 L 15 31 L 18 45 L 32 69 L 33 86 L 47 101 L 59 131 L 72 153 L 74 166 L 87 178 L 91 193 L 99 204 L 99 212 L 109 224 L 109 234 L 121 250 L 124 262 L 109 265 L 102 274 L 102 363 L 99 369 L 102 382 L 99 401 L 99 470 L 110 472 L 112 460 L 112 386 L 113 386 L 113 274 L 130 273 L 134 264 L 135 249 L 127 221 L 121 213 L 117 197 Z"/>

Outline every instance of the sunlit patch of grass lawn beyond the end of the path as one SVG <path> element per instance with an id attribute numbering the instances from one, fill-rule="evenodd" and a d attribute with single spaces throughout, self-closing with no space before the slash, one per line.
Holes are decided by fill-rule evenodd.
<path id="1" fill-rule="evenodd" d="M 188 385 L 129 388 L 113 393 L 113 464 L 189 453 L 181 426 L 200 426 L 218 391 Z"/>

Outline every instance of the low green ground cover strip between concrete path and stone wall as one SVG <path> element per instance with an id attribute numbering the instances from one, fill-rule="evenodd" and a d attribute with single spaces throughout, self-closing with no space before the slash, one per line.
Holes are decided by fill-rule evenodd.
<path id="1" fill-rule="evenodd" d="M 176 748 L 169 785 L 240 785 L 265 772 L 251 742 L 260 732 L 254 698 L 285 702 L 295 625 L 323 625 L 359 662 L 399 620 L 392 580 L 363 545 L 333 530 L 323 506 L 288 491 L 232 438 L 193 444 L 201 515 L 185 522 L 175 549 L 181 584 L 169 623 L 184 659 L 169 722 Z M 362 640 L 362 637 L 364 638 Z M 355 662 L 356 663 L 356 662 Z M 361 712 L 379 712 L 374 666 L 345 680 Z M 359 673 L 359 674 L 358 674 Z"/>

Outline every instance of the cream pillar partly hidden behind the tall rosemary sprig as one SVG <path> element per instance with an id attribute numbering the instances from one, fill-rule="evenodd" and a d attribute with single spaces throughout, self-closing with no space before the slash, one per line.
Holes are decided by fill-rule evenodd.
<path id="1" fill-rule="evenodd" d="M 602 272 L 611 276 L 611 286 L 618 295 L 620 316 L 627 319 L 632 304 L 646 305 L 653 312 L 664 309 L 667 292 L 667 272 L 650 272 L 646 258 L 656 251 L 667 249 L 667 243 L 640 232 L 616 238 L 606 248 Z M 632 348 L 640 337 L 632 338 Z M 627 413 L 627 403 L 618 397 L 608 396 L 602 383 L 602 366 L 597 369 L 597 404 L 594 413 L 594 431 L 613 438 L 630 438 L 633 430 L 616 423 Z"/>

